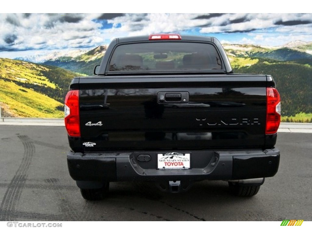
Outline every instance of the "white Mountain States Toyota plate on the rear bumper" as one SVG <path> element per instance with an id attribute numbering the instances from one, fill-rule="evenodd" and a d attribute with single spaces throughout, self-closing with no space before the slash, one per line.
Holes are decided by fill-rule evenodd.
<path id="1" fill-rule="evenodd" d="M 157 154 L 158 169 L 189 169 L 190 157 L 190 154 L 181 154 L 176 152 Z"/>

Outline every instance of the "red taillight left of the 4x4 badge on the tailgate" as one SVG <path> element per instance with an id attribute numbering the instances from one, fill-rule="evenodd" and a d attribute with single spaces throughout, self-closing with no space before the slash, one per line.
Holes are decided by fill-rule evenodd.
<path id="1" fill-rule="evenodd" d="M 65 97 L 65 127 L 68 135 L 80 137 L 79 90 L 70 90 Z"/>

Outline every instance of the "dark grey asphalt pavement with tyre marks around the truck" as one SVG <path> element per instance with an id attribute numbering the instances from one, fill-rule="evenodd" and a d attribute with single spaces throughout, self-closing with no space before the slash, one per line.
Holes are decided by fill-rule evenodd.
<path id="1" fill-rule="evenodd" d="M 224 181 L 197 182 L 181 194 L 116 182 L 105 200 L 90 202 L 69 176 L 63 126 L 2 122 L 0 221 L 312 221 L 311 134 L 285 129 L 292 132 L 278 134 L 279 171 L 254 197 L 232 196 Z"/>

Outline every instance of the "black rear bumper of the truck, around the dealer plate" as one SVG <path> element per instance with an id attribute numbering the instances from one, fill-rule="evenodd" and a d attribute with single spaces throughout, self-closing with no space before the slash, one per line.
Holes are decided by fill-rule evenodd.
<path id="1" fill-rule="evenodd" d="M 194 151 L 191 169 L 158 170 L 154 155 L 159 152 L 73 153 L 67 154 L 71 177 L 76 181 L 175 181 L 242 180 L 272 177 L 277 173 L 280 151 L 219 150 Z M 148 163 L 138 155 L 149 154 Z M 192 161 L 193 160 L 193 161 Z"/>

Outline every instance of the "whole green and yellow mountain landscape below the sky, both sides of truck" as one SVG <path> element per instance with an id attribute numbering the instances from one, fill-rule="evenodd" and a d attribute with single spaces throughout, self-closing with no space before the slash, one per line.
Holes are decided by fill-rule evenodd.
<path id="1" fill-rule="evenodd" d="M 247 44 L 223 44 L 223 47 L 235 73 L 273 76 L 281 95 L 283 116 L 300 112 L 312 113 L 312 42 L 292 41 L 279 47 Z M 25 107 L 17 110 L 17 104 L 12 105 L 9 99 L 4 99 L 9 95 L 7 91 L 9 89 L 11 97 L 22 95 L 24 97 L 22 103 L 25 105 L 32 103 L 31 105 L 34 106 L 37 104 L 32 97 L 34 97 L 33 92 L 36 92 L 41 95 L 42 100 L 51 98 L 51 103 L 57 101 L 51 105 L 54 112 L 49 110 L 53 112 L 49 116 L 61 116 L 62 103 L 71 78 L 92 75 L 94 66 L 100 64 L 106 49 L 107 46 L 103 45 L 89 51 L 52 53 L 41 57 L 18 58 L 19 60 L 0 59 L 2 108 L 5 106 L 10 110 L 16 109 L 12 116 L 38 116 L 40 111 L 31 114 L 32 111 L 29 110 L 28 114 L 25 114 L 23 113 Z M 39 59 L 41 59 L 40 64 L 29 62 L 29 60 L 39 61 Z M 14 100 L 18 101 L 17 98 Z M 41 113 L 47 116 L 46 112 L 49 111 L 44 110 Z"/>

